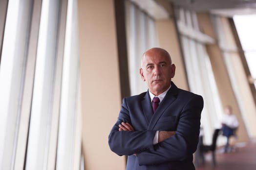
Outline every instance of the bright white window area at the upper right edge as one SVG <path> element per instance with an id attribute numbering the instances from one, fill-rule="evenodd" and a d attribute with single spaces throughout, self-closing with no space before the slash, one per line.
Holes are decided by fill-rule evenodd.
<path id="1" fill-rule="evenodd" d="M 256 86 L 256 15 L 234 16 L 234 22 Z"/>

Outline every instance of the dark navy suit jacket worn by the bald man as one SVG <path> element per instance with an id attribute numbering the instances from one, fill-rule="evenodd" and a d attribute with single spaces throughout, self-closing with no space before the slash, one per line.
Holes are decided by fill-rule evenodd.
<path id="1" fill-rule="evenodd" d="M 198 143 L 202 109 L 201 96 L 173 83 L 154 114 L 149 92 L 124 98 L 108 136 L 109 147 L 118 155 L 128 155 L 127 170 L 194 170 L 192 153 Z M 122 121 L 130 123 L 134 132 L 118 131 Z M 176 134 L 153 145 L 157 130 Z"/>

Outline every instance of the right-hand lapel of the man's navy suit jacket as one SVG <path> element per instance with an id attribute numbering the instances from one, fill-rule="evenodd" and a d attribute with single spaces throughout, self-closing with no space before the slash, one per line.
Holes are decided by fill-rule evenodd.
<path id="1" fill-rule="evenodd" d="M 155 124 L 157 123 L 158 119 L 163 115 L 165 110 L 171 105 L 173 101 L 176 100 L 176 96 L 178 94 L 178 88 L 171 82 L 171 88 L 167 92 L 165 98 L 162 102 L 160 102 L 159 106 L 157 107 L 155 113 L 153 114 L 151 120 L 149 121 L 148 129 L 153 129 Z M 152 110 L 152 109 L 151 109 Z"/>

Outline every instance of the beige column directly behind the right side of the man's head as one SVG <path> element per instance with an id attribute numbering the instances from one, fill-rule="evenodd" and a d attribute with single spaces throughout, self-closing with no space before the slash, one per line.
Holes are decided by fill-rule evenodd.
<path id="1" fill-rule="evenodd" d="M 171 54 L 172 63 L 176 66 L 175 76 L 172 80 L 179 88 L 188 90 L 187 76 L 174 20 L 172 18 L 157 20 L 155 23 L 159 46 Z"/>

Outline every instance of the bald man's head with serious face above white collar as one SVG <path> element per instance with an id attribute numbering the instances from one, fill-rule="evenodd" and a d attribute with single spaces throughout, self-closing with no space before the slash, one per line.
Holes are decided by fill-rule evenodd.
<path id="1" fill-rule="evenodd" d="M 143 56 L 140 75 L 154 95 L 157 96 L 170 87 L 174 74 L 175 65 L 171 64 L 171 58 L 166 52 L 151 50 Z"/>

